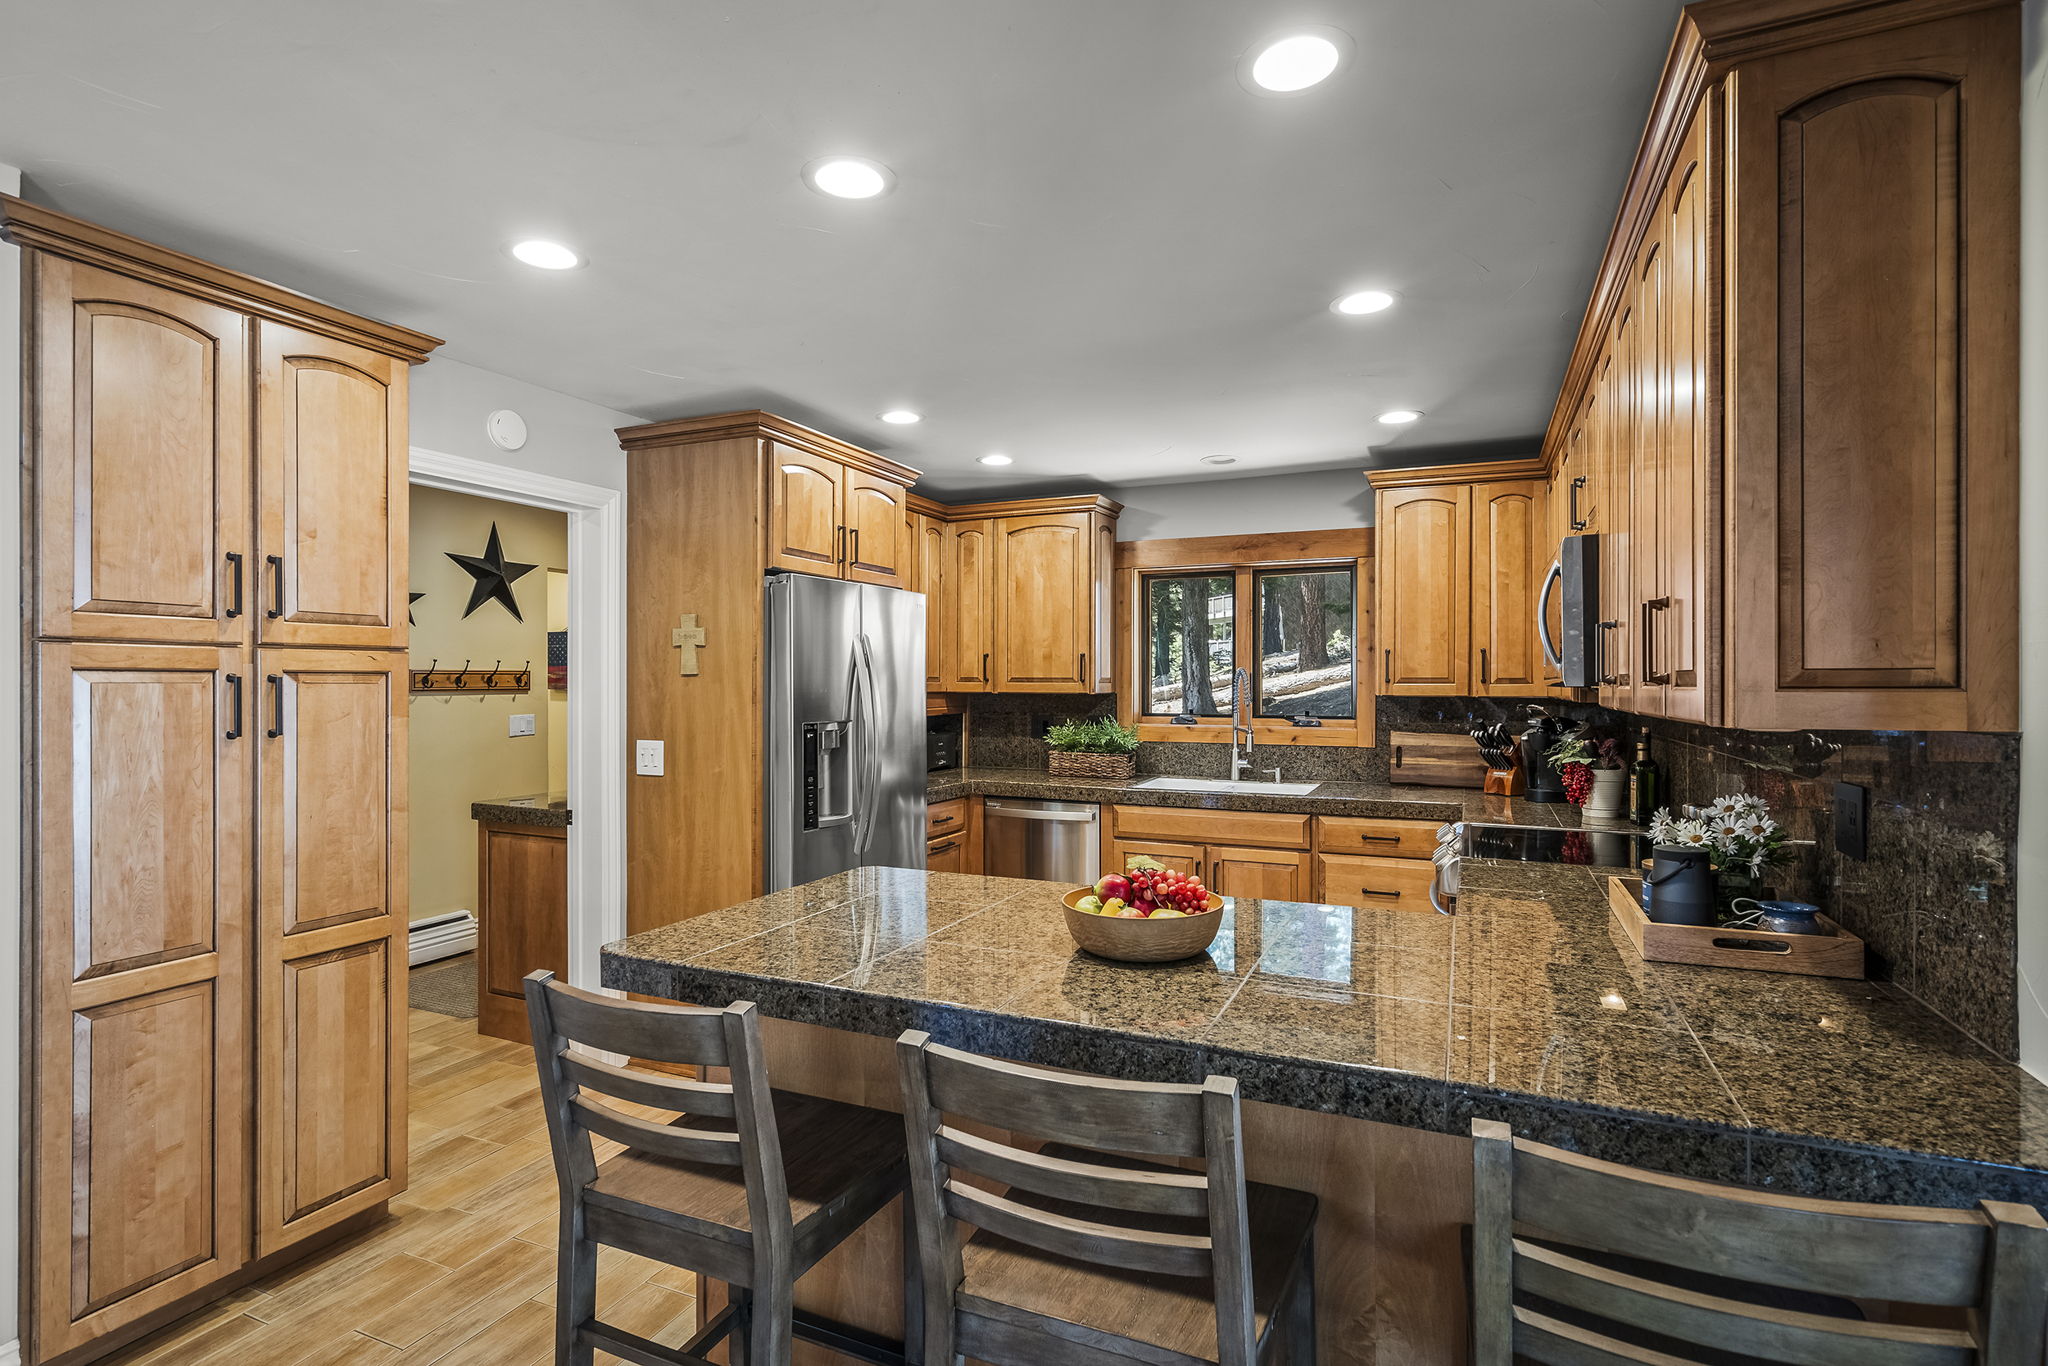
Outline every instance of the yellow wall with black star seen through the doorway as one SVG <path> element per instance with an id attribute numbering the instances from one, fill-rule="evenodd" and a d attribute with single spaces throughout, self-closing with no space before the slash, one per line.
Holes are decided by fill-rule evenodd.
<path id="1" fill-rule="evenodd" d="M 539 565 L 512 584 L 524 623 L 498 602 L 471 616 L 473 580 L 449 553 L 481 555 L 498 522 L 510 561 Z M 489 670 L 532 661 L 532 690 L 492 696 L 412 694 L 412 917 L 477 909 L 477 827 L 469 803 L 549 791 L 547 696 L 549 569 L 567 569 L 569 524 L 561 512 L 412 489 L 412 668 Z M 514 715 L 530 713 L 535 733 L 508 737 Z"/>

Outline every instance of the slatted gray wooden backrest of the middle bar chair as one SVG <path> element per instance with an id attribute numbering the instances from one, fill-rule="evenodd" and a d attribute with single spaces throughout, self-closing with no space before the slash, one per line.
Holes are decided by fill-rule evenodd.
<path id="1" fill-rule="evenodd" d="M 961 1249 L 952 1229 L 958 1221 L 1079 1262 L 1208 1278 L 1217 1298 L 1219 1362 L 1249 1366 L 1255 1321 L 1237 1081 L 1208 1077 L 1202 1085 L 1145 1085 L 1042 1071 L 946 1049 L 918 1030 L 897 1040 L 897 1061 L 911 1202 L 926 1260 L 926 1303 L 938 1311 L 928 1321 L 950 1321 L 952 1315 L 950 1296 L 961 1284 Z M 1204 1169 L 1075 1161 L 987 1137 L 985 1130 L 1104 1155 L 1196 1157 Z M 1030 1192 L 1065 1208 L 1032 1208 L 963 1176 L 999 1182 L 1010 1196 Z M 1206 1233 L 1167 1231 L 1176 1221 L 1159 1216 L 1204 1221 Z M 942 1331 L 950 1339 L 950 1327 Z M 930 1329 L 926 1350 L 934 1350 Z"/>

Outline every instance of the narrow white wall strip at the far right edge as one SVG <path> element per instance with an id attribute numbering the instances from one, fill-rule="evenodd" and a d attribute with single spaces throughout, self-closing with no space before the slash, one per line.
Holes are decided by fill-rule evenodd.
<path id="1" fill-rule="evenodd" d="M 2048 0 L 2023 8 L 2019 524 L 2048 518 Z M 2019 1063 L 2048 1081 L 2048 543 L 2019 539 Z"/>

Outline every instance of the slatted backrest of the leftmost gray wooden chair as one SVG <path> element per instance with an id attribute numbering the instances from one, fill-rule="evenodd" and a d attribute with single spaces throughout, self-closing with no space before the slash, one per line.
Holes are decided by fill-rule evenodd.
<path id="1" fill-rule="evenodd" d="M 563 1208 L 596 1180 L 590 1135 L 600 1135 L 651 1157 L 739 1167 L 756 1255 L 782 1255 L 791 1247 L 782 1141 L 754 1001 L 733 1001 L 725 1010 L 653 1006 L 582 991 L 539 971 L 526 975 L 526 1022 Z M 731 1079 L 692 1081 L 621 1067 L 590 1051 L 725 1067 Z M 606 1100 L 676 1112 L 678 1118 L 649 1120 Z M 731 1120 L 733 1128 L 692 1126 L 692 1118 Z"/>

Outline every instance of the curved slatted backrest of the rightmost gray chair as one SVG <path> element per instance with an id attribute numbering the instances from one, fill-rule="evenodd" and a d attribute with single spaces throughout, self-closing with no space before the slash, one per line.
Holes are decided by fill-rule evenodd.
<path id="1" fill-rule="evenodd" d="M 2042 1362 L 2048 1223 L 2025 1204 L 1942 1210 L 1778 1196 L 1636 1171 L 1473 1120 L 1473 1210 L 1475 1366 L 1686 1366 L 1686 1348 L 1819 1366 Z M 1612 1253 L 1610 1266 L 1573 1255 L 1581 1249 Z M 1681 1284 L 1614 1270 L 1616 1257 L 1673 1268 Z M 1710 1288 L 1698 1288 L 1702 1278 Z M 1970 1313 L 1954 1315 L 1958 1327 L 1868 1323 L 1722 1294 L 1739 1290 L 1726 1282 Z M 1659 1343 L 1616 1341 L 1585 1321 L 1516 1305 L 1518 1294 Z"/>

